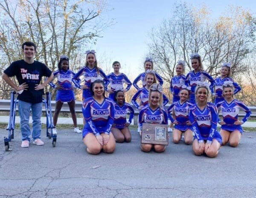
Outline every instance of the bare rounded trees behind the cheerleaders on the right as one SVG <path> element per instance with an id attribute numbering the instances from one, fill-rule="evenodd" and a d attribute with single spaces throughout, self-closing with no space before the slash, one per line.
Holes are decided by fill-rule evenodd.
<path id="1" fill-rule="evenodd" d="M 192 8 L 175 4 L 173 15 L 151 29 L 149 54 L 155 68 L 170 83 L 177 60 L 185 60 L 191 70 L 189 55 L 198 52 L 204 69 L 216 77 L 223 62 L 233 65 L 233 77 L 245 69 L 242 60 L 251 51 L 255 38 L 255 19 L 241 7 L 230 7 L 218 20 L 209 17 L 206 7 Z"/>

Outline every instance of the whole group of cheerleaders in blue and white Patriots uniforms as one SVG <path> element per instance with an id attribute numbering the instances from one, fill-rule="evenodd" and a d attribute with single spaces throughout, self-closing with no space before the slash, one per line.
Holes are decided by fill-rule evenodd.
<path id="1" fill-rule="evenodd" d="M 86 52 L 86 65 L 76 74 L 69 69 L 69 58 L 65 55 L 60 57 L 58 71 L 53 73 L 58 82 L 49 83 L 57 89 L 53 123 L 56 126 L 61 106 L 67 102 L 75 126 L 74 131 L 81 133 L 76 123 L 73 89 L 82 89 L 82 137 L 87 152 L 112 153 L 116 142 L 131 141 L 128 126 L 134 117 L 134 109 L 125 102 L 124 93 L 130 89 L 132 83 L 125 74 L 119 72 L 121 66 L 118 61 L 113 62 L 113 72 L 105 75 L 97 66 L 95 53 L 94 50 Z M 144 62 L 145 72 L 133 82 L 138 90 L 131 101 L 139 109 L 140 129 L 143 123 L 168 124 L 169 119 L 171 126 L 174 125 L 173 143 L 179 143 L 184 135 L 184 142 L 192 144 L 195 155 L 216 157 L 221 145 L 228 142 L 233 147 L 239 145 L 243 133 L 241 125 L 247 121 L 251 112 L 244 103 L 233 97 L 241 88 L 230 78 L 230 63 L 222 64 L 220 77 L 213 79 L 203 70 L 200 55 L 192 54 L 190 60 L 193 70 L 186 76 L 185 62 L 177 62 L 176 76 L 171 79 L 170 86 L 173 101 L 167 110 L 164 108 L 168 98 L 163 94 L 163 80 L 154 72 L 153 61 L 148 57 Z M 81 83 L 82 75 L 84 82 Z M 137 85 L 140 80 L 142 88 Z M 109 98 L 105 97 L 105 91 L 109 93 Z M 215 98 L 215 103 L 208 102 L 210 93 Z M 238 118 L 239 109 L 246 113 L 241 121 Z M 218 111 L 221 112 L 222 119 L 219 119 Z M 130 116 L 127 122 L 128 112 Z M 221 125 L 220 133 L 217 131 L 217 123 Z M 57 133 L 56 129 L 54 133 Z M 164 152 L 166 146 L 141 143 L 142 151 L 149 152 L 151 149 Z"/>

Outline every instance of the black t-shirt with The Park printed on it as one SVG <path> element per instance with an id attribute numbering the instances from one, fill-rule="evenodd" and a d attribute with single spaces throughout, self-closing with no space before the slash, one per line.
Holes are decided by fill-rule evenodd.
<path id="1" fill-rule="evenodd" d="M 13 62 L 4 73 L 9 77 L 16 76 L 19 84 L 26 83 L 29 85 L 27 90 L 24 90 L 18 99 L 27 103 L 41 103 L 44 89 L 35 90 L 35 85 L 40 84 L 42 76 L 49 77 L 52 72 L 44 63 L 34 61 L 34 63 L 26 63 L 24 60 Z"/>

